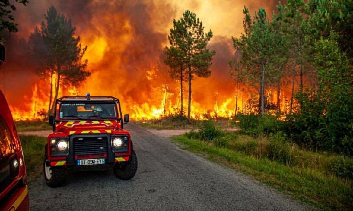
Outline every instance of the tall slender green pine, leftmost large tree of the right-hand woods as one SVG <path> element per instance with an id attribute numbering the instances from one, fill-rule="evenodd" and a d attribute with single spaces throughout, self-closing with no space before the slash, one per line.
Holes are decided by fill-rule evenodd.
<path id="1" fill-rule="evenodd" d="M 244 81 L 258 92 L 259 112 L 264 114 L 265 86 L 273 82 L 273 76 L 278 74 L 276 62 L 283 48 L 283 38 L 268 19 L 264 8 L 259 8 L 253 20 L 246 7 L 243 12 L 245 33 L 240 38 L 232 37 L 233 45 L 241 51 Z"/>

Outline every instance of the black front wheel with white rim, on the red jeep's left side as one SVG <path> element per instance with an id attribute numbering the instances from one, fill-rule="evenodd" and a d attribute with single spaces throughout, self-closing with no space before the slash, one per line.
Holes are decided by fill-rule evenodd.
<path id="1" fill-rule="evenodd" d="M 43 163 L 44 180 L 51 188 L 60 187 L 65 183 L 65 167 L 47 166 L 46 159 Z"/>

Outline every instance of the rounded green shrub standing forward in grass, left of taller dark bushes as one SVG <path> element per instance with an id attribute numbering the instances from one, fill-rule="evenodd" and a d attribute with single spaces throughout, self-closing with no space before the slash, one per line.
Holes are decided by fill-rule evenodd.
<path id="1" fill-rule="evenodd" d="M 292 145 L 287 141 L 287 136 L 282 132 L 270 135 L 267 146 L 268 158 L 277 163 L 290 165 L 292 158 Z"/>

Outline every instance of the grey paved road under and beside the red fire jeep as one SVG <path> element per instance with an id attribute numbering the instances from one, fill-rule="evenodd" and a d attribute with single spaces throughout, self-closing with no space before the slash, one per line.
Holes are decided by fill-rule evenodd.
<path id="1" fill-rule="evenodd" d="M 138 156 L 133 179 L 84 171 L 49 188 L 41 176 L 29 184 L 31 210 L 310 210 L 250 176 L 178 149 L 164 133 L 133 123 L 126 129 Z"/>

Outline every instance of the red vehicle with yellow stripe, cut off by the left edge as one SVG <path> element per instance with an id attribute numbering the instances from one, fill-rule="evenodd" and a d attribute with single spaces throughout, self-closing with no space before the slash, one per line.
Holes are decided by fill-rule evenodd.
<path id="1" fill-rule="evenodd" d="M 0 210 L 29 210 L 26 167 L 20 139 L 0 91 Z"/>

